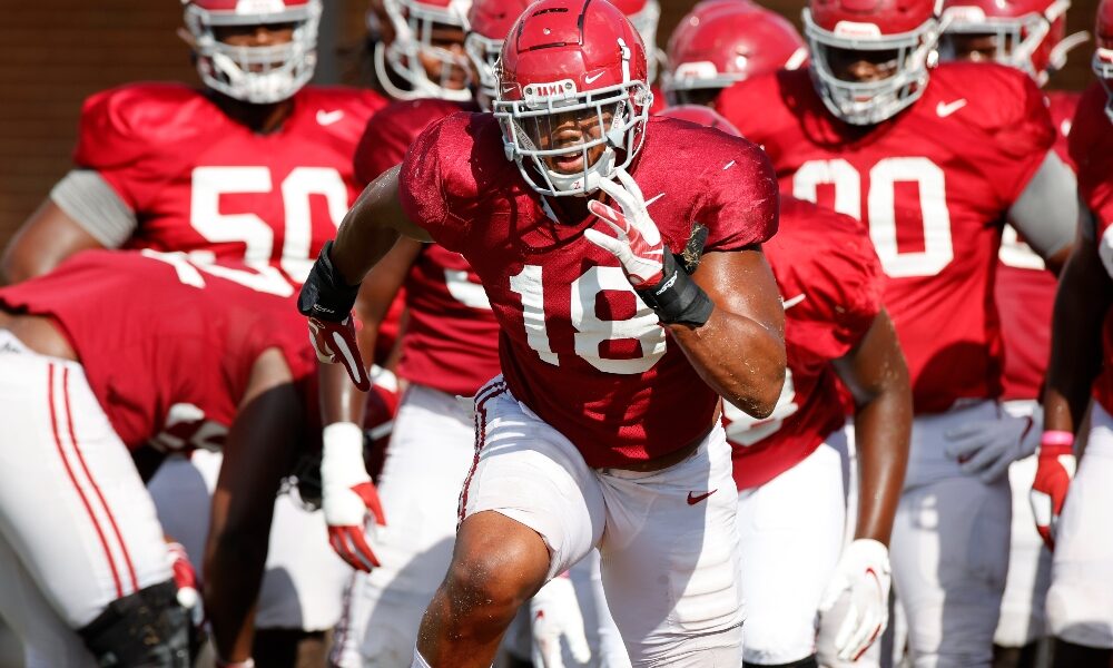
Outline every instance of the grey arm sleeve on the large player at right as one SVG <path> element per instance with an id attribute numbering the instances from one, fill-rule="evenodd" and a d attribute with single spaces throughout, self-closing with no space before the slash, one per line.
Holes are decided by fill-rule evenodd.
<path id="1" fill-rule="evenodd" d="M 1008 209 L 1008 219 L 1041 257 L 1051 257 L 1074 240 L 1078 219 L 1077 181 L 1055 151 Z"/>

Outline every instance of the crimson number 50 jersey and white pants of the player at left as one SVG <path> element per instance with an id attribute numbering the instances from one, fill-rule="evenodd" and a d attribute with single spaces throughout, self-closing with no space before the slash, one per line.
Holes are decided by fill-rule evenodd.
<path id="1" fill-rule="evenodd" d="M 293 308 L 285 298 L 293 297 L 358 195 L 352 151 L 384 102 L 370 91 L 313 87 L 290 100 L 283 126 L 259 135 L 205 92 L 181 85 L 132 85 L 92 96 L 82 109 L 75 163 L 108 184 L 132 225 L 90 234 L 107 247 L 184 252 Z M 162 523 L 195 563 L 208 518 L 196 509 L 207 501 L 183 494 L 211 494 L 218 469 L 206 454 L 197 466 L 170 459 L 150 484 Z M 264 605 L 260 628 L 331 628 L 339 618 L 347 569 L 325 541 L 309 547 L 302 539 L 324 536 L 323 518 L 283 494 L 274 525 L 260 600 L 290 600 L 292 583 L 297 597 L 293 606 Z"/>

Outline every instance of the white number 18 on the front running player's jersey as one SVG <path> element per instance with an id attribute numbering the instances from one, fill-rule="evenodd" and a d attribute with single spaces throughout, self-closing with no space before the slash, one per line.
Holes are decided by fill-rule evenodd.
<path id="1" fill-rule="evenodd" d="M 541 360 L 560 366 L 560 357 L 549 343 L 545 323 L 542 271 L 539 265 L 525 265 L 510 277 L 510 289 L 522 297 L 525 337 Z M 627 320 L 608 321 L 595 315 L 595 304 L 603 292 L 626 292 L 637 299 L 638 312 Z M 573 344 L 577 356 L 604 373 L 638 374 L 652 369 L 664 355 L 664 330 L 657 314 L 633 292 L 621 267 L 591 267 L 571 285 L 571 317 L 575 328 Z M 638 342 L 641 355 L 631 360 L 612 360 L 600 354 L 605 341 Z"/>

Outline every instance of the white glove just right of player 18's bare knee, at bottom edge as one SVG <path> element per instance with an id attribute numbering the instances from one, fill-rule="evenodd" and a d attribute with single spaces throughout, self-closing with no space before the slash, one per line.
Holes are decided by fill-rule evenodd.
<path id="1" fill-rule="evenodd" d="M 533 630 L 533 665 L 538 668 L 564 668 L 561 638 L 577 664 L 591 660 L 591 648 L 583 631 L 583 615 L 568 573 L 553 578 L 530 600 Z"/>

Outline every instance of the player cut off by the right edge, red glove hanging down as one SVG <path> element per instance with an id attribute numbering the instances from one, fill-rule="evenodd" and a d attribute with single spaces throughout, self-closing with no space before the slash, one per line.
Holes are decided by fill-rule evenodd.
<path id="1" fill-rule="evenodd" d="M 1083 95 L 1071 130 L 1078 166 L 1082 225 L 1077 247 L 1060 277 L 1052 355 L 1044 394 L 1044 434 L 1033 487 L 1033 510 L 1053 542 L 1047 623 L 1055 666 L 1107 666 L 1113 658 L 1113 597 L 1107 583 L 1113 542 L 1109 525 L 1113 477 L 1113 2 L 1097 7 L 1097 82 Z M 1084 413 L 1090 406 L 1090 421 Z M 1075 471 L 1074 438 L 1085 434 Z M 1070 494 L 1067 494 L 1070 485 Z M 1066 504 L 1064 505 L 1064 499 Z M 1062 513 L 1062 515 L 1060 515 Z"/>

